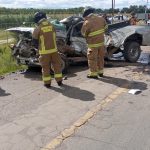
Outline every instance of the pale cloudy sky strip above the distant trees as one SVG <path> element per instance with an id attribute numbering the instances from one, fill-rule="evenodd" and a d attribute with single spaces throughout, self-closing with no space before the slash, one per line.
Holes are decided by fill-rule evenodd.
<path id="1" fill-rule="evenodd" d="M 150 0 L 149 0 L 150 1 Z M 9 8 L 75 8 L 92 6 L 111 8 L 112 0 L 0 0 L 0 7 Z M 116 8 L 145 5 L 147 0 L 116 0 Z"/>

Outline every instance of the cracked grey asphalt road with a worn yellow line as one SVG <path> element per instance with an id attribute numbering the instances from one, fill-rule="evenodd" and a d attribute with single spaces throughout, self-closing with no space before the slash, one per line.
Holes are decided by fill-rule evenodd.
<path id="1" fill-rule="evenodd" d="M 53 80 L 51 89 L 39 70 L 1 79 L 0 150 L 150 149 L 150 66 L 111 61 L 104 78 L 87 73 L 70 66 L 64 86 Z"/>

